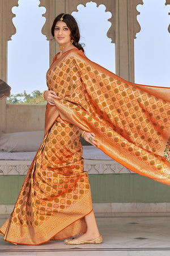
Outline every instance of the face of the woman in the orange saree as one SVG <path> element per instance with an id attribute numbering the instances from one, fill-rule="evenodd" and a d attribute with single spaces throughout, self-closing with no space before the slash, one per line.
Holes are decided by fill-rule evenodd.
<path id="1" fill-rule="evenodd" d="M 65 22 L 58 21 L 54 28 L 54 38 L 60 46 L 67 46 L 71 42 L 71 31 Z"/>

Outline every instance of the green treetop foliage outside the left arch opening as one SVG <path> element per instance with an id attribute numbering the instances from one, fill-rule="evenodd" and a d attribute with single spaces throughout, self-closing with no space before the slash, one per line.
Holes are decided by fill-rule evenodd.
<path id="1" fill-rule="evenodd" d="M 33 90 L 31 94 L 23 93 L 11 94 L 7 99 L 7 104 L 45 104 L 42 93 L 39 90 Z"/>

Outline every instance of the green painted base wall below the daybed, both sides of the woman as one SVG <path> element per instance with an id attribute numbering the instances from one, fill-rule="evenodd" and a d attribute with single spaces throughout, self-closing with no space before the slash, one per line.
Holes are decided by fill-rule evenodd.
<path id="1" fill-rule="evenodd" d="M 0 177 L 0 204 L 15 204 L 24 175 Z M 170 202 L 170 187 L 138 174 L 91 174 L 94 203 Z"/>

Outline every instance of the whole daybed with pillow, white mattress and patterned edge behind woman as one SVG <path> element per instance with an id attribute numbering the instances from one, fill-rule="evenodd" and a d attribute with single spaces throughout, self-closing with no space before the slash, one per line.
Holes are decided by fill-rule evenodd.
<path id="1" fill-rule="evenodd" d="M 42 142 L 43 134 L 43 131 L 1 134 L 0 174 L 25 175 Z M 88 174 L 133 173 L 98 148 L 84 142 L 82 141 L 84 171 Z"/>

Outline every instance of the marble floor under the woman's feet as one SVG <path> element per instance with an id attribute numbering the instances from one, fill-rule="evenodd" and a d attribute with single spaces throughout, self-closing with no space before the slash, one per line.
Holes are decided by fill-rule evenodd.
<path id="1" fill-rule="evenodd" d="M 12 245 L 0 236 L 0 255 L 170 255 L 170 213 L 97 213 L 104 242 L 100 245 L 65 245 L 49 241 L 43 245 Z M 0 215 L 0 225 L 8 216 Z"/>

